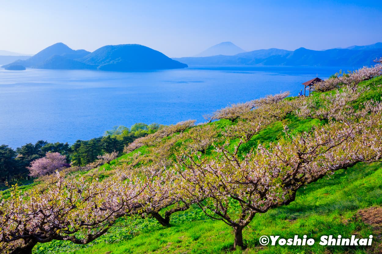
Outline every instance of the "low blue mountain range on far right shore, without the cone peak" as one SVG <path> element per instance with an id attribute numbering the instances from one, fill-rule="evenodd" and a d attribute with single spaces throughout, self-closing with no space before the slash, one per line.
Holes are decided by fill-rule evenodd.
<path id="1" fill-rule="evenodd" d="M 270 48 L 239 53 L 233 56 L 173 58 L 186 64 L 208 65 L 266 65 L 266 66 L 363 66 L 374 64 L 373 59 L 382 56 L 382 43 L 329 50 L 294 51 Z"/>

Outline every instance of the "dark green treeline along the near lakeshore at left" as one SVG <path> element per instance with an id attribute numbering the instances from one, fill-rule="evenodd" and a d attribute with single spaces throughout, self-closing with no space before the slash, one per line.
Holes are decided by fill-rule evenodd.
<path id="1" fill-rule="evenodd" d="M 91 140 L 77 140 L 73 145 L 68 143 L 49 143 L 39 140 L 35 144 L 28 143 L 13 150 L 8 145 L 0 145 L 0 186 L 30 178 L 28 166 L 31 162 L 42 158 L 46 153 L 65 155 L 67 162 L 73 166 L 85 166 L 97 160 L 97 156 L 123 152 L 123 148 L 136 138 L 144 137 L 161 129 L 164 125 L 137 123 L 127 128 L 115 126 L 105 132 L 103 137 Z"/>

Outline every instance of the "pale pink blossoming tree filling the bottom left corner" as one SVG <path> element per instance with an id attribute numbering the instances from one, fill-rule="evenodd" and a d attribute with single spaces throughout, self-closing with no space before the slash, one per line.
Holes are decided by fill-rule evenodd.
<path id="1" fill-rule="evenodd" d="M 137 180 L 68 179 L 58 172 L 57 182 L 42 190 L 13 188 L 0 204 L 0 249 L 28 254 L 37 243 L 52 240 L 90 243 L 135 208 L 144 188 Z"/>

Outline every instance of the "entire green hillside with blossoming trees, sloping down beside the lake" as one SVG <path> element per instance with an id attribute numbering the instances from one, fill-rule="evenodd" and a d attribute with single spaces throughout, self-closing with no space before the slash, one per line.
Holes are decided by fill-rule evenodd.
<path id="1" fill-rule="evenodd" d="M 232 104 L 206 116 L 208 123 L 184 121 L 138 138 L 110 163 L 10 188 L 0 207 L 2 237 L 26 240 L 0 247 L 380 253 L 381 74 L 376 65 L 317 83 L 310 97 L 283 92 Z M 262 235 L 374 238 L 371 246 L 262 246 Z"/>

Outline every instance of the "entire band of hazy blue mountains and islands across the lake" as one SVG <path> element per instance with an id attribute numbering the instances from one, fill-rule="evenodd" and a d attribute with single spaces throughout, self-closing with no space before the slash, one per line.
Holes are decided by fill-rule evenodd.
<path id="1" fill-rule="evenodd" d="M 217 44 L 201 54 L 231 54 L 243 51 L 231 42 Z M 363 66 L 374 64 L 382 56 L 382 43 L 329 50 L 294 51 L 269 48 L 236 55 L 168 58 L 159 51 L 138 44 L 108 45 L 94 52 L 73 50 L 56 43 L 34 56 L 0 56 L 3 68 L 24 66 L 38 69 L 99 69 L 103 71 L 139 71 L 186 68 L 194 65 L 264 65 L 264 66 Z M 18 60 L 16 60 L 18 59 Z"/>

